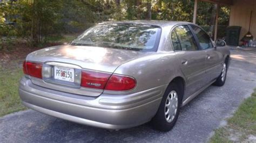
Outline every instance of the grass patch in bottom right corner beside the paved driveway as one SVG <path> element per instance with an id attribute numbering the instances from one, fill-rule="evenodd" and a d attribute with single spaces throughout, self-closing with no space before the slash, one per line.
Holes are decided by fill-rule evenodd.
<path id="1" fill-rule="evenodd" d="M 249 135 L 256 136 L 256 89 L 227 120 L 227 125 L 215 130 L 210 142 L 248 142 Z"/>

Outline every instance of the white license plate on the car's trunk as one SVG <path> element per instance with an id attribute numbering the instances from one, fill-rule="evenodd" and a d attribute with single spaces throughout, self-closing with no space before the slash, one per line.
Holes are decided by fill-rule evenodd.
<path id="1" fill-rule="evenodd" d="M 74 82 L 75 70 L 73 68 L 65 68 L 54 66 L 54 78 L 56 80 Z"/>

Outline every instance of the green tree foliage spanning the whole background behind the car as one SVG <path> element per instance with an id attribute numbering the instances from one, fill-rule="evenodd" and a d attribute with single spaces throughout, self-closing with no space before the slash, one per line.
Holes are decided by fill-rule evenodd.
<path id="1" fill-rule="evenodd" d="M 0 4 L 0 48 L 9 47 L 1 37 L 22 37 L 32 47 L 51 34 L 82 32 L 108 20 L 178 20 L 192 22 L 191 0 L 18 0 Z M 198 3 L 197 24 L 213 25 L 215 7 Z M 227 25 L 230 10 L 222 7 L 219 24 Z M 10 23 L 13 22 L 13 23 Z"/>

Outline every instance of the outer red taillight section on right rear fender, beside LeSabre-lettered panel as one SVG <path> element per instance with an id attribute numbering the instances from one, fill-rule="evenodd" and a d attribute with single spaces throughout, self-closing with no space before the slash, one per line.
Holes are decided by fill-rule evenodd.
<path id="1" fill-rule="evenodd" d="M 112 75 L 106 84 L 105 90 L 125 91 L 136 86 L 136 80 L 129 76 Z"/>

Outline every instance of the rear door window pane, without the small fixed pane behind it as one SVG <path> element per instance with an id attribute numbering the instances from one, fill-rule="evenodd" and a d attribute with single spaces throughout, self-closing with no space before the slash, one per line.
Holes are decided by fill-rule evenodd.
<path id="1" fill-rule="evenodd" d="M 177 37 L 180 42 L 182 51 L 196 51 L 198 50 L 196 41 L 194 40 L 193 34 L 187 25 L 180 25 L 174 28 L 177 33 Z"/>

